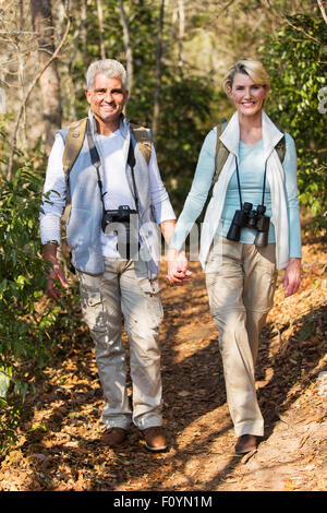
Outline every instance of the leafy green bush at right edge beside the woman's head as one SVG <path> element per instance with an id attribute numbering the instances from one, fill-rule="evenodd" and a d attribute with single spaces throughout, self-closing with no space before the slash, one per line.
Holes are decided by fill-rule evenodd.
<path id="1" fill-rule="evenodd" d="M 262 51 L 271 76 L 269 115 L 296 144 L 300 201 L 314 214 L 314 227 L 326 229 L 327 109 L 320 100 L 327 96 L 323 91 L 327 86 L 325 21 L 305 14 L 289 16 Z"/>

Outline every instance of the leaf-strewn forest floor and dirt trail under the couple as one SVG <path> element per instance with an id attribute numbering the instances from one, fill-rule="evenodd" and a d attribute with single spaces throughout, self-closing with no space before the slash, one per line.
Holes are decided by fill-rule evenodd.
<path id="1" fill-rule="evenodd" d="M 161 271 L 167 452 L 153 454 L 132 428 L 118 449 L 100 443 L 102 394 L 84 325 L 58 341 L 28 397 L 28 416 L 2 461 L 2 491 L 326 491 L 326 241 L 303 246 L 300 291 L 284 299 L 281 274 L 262 334 L 256 386 L 266 422 L 257 451 L 234 454 L 218 334 L 204 274 L 170 287 Z M 130 386 L 130 394 L 132 393 Z"/>

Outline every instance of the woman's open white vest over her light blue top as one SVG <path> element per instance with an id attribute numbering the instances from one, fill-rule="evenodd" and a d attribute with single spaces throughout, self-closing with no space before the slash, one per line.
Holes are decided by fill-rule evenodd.
<path id="1" fill-rule="evenodd" d="M 270 187 L 272 211 L 270 220 L 274 224 L 276 236 L 276 265 L 277 269 L 280 270 L 286 267 L 289 262 L 289 223 L 283 187 L 284 172 L 275 150 L 276 144 L 281 140 L 283 134 L 264 111 L 262 116 L 263 162 L 267 159 L 267 181 Z M 220 135 L 220 140 L 230 154 L 214 188 L 213 198 L 202 226 L 199 261 L 204 269 L 211 242 L 220 223 L 227 187 L 235 170 L 235 156 L 239 158 L 240 124 L 238 112 L 234 112 L 232 116 Z"/>

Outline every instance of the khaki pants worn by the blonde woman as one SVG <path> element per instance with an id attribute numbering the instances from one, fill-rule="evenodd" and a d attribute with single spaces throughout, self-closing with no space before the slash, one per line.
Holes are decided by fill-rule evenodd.
<path id="1" fill-rule="evenodd" d="M 238 437 L 264 434 L 254 366 L 258 338 L 274 303 L 275 243 L 265 248 L 217 237 L 206 266 L 211 315 L 219 348 L 229 410 Z"/>

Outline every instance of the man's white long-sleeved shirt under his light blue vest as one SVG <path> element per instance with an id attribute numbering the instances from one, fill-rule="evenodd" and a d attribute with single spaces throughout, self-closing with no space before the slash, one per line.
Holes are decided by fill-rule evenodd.
<path id="1" fill-rule="evenodd" d="M 124 138 L 120 130 L 111 135 L 97 134 L 97 142 L 100 146 L 102 170 L 102 190 L 106 210 L 117 210 L 120 205 L 129 205 L 135 208 L 135 202 L 128 183 L 125 174 L 125 163 L 123 157 Z M 64 143 L 60 134 L 57 134 L 48 162 L 44 193 L 51 190 L 57 193 L 50 193 L 49 200 L 52 204 L 44 202 L 40 214 L 40 237 L 41 242 L 47 240 L 60 240 L 60 217 L 65 205 L 65 179 L 62 167 L 62 155 Z M 149 184 L 152 204 L 156 222 L 158 224 L 168 219 L 175 219 L 168 193 L 162 183 L 156 152 L 152 146 L 152 158 L 149 162 Z M 96 169 L 94 170 L 96 172 Z M 105 235 L 101 231 L 102 254 L 105 256 L 118 259 L 117 236 Z"/>

